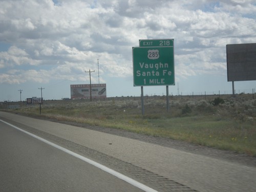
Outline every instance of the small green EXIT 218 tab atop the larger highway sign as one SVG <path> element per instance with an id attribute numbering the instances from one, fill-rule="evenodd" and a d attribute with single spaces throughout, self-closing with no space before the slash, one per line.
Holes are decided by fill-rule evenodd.
<path id="1" fill-rule="evenodd" d="M 140 47 L 174 47 L 174 39 L 140 39 Z"/>

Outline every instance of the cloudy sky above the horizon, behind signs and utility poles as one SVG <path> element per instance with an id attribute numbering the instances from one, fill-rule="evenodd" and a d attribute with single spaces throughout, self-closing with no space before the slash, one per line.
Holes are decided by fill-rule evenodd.
<path id="1" fill-rule="evenodd" d="M 106 96 L 140 96 L 132 48 L 174 39 L 169 94 L 232 93 L 226 45 L 256 42 L 256 1 L 0 0 L 0 101 L 70 98 L 71 84 L 106 83 Z M 256 81 L 235 81 L 236 93 Z M 22 90 L 22 94 L 20 91 Z M 143 87 L 165 95 L 166 86 Z"/>

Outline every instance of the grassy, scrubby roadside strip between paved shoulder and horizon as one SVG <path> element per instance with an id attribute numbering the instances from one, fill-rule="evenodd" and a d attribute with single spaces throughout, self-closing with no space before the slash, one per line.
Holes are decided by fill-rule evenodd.
<path id="1" fill-rule="evenodd" d="M 53 100 L 22 105 L 15 113 L 42 116 L 58 121 L 111 127 L 155 137 L 182 140 L 256 157 L 256 99 L 123 97 L 100 101 Z"/>

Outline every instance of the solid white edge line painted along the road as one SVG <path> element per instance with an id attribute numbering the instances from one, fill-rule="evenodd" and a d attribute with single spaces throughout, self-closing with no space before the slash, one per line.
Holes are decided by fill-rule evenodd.
<path id="1" fill-rule="evenodd" d="M 30 135 L 30 136 L 36 138 L 36 139 L 39 139 L 39 140 L 42 141 L 42 142 L 45 142 L 45 143 L 47 143 L 47 144 L 49 144 L 49 145 L 51 145 L 51 146 L 53 146 L 53 147 L 55 147 L 55 148 L 58 148 L 59 150 L 61 150 L 61 151 L 63 151 L 63 152 L 66 152 L 66 153 L 68 153 L 68 154 L 70 154 L 70 155 L 72 155 L 72 156 L 74 156 L 74 157 L 76 157 L 76 158 L 78 158 L 78 159 L 81 159 L 81 160 L 83 160 L 83 161 L 85 161 L 85 162 L 87 162 L 87 163 L 90 163 L 91 165 L 93 165 L 93 166 L 95 166 L 95 167 L 98 167 L 98 168 L 100 168 L 101 170 L 104 170 L 104 172 L 107 172 L 107 173 L 109 173 L 109 174 L 111 174 L 111 175 L 113 175 L 113 176 L 115 176 L 115 177 L 117 177 L 117 178 L 119 178 L 119 179 L 121 179 L 121 180 L 127 182 L 127 183 L 130 183 L 131 185 L 133 185 L 133 186 L 135 186 L 135 187 L 137 187 L 137 188 L 140 188 L 140 189 L 142 189 L 142 190 L 144 190 L 144 191 L 146 191 L 146 192 L 157 192 L 157 190 L 155 190 L 155 189 L 153 189 L 153 188 L 150 188 L 150 187 L 148 187 L 148 186 L 146 186 L 146 185 L 144 185 L 144 184 L 142 184 L 142 183 L 140 183 L 140 182 L 138 182 L 138 181 L 135 181 L 134 179 L 132 179 L 132 178 L 130 178 L 130 177 L 127 177 L 127 176 L 125 176 L 125 175 L 122 175 L 122 174 L 116 172 L 115 170 L 113 170 L 113 169 L 111 169 L 111 168 L 109 168 L 109 167 L 106 167 L 106 166 L 104 166 L 104 165 L 101 165 L 101 164 L 99 164 L 99 163 L 97 163 L 97 162 L 95 162 L 95 161 L 93 161 L 93 160 L 91 160 L 91 159 L 88 159 L 88 158 L 83 157 L 83 156 L 81 156 L 81 155 L 79 155 L 79 154 L 76 154 L 76 153 L 74 153 L 74 152 L 68 150 L 67 148 L 61 147 L 61 146 L 59 146 L 59 145 L 57 145 L 57 144 L 55 144 L 55 143 L 52 143 L 52 142 L 50 142 L 50 141 L 48 141 L 48 140 L 46 140 L 46 139 L 43 139 L 43 138 L 41 138 L 41 137 L 38 137 L 38 136 L 36 136 L 36 135 L 34 135 L 34 134 L 32 134 L 32 133 L 29 133 L 29 132 L 27 132 L 27 131 L 25 131 L 25 130 L 23 130 L 23 129 L 20 129 L 19 127 L 15 126 L 15 125 L 12 125 L 12 124 L 10 124 L 10 123 L 8 123 L 8 122 L 5 122 L 5 121 L 3 121 L 3 120 L 1 120 L 1 119 L 0 119 L 0 121 L 2 121 L 2 122 L 5 123 L 5 124 L 8 124 L 9 126 L 15 128 L 15 129 L 17 129 L 17 130 L 19 130 L 19 131 L 22 131 L 22 132 L 24 132 L 24 133 L 26 133 L 26 134 L 28 134 L 28 135 Z"/>

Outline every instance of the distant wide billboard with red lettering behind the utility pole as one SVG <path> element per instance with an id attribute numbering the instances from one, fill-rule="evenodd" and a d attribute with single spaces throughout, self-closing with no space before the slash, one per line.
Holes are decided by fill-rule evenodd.
<path id="1" fill-rule="evenodd" d="M 106 98 L 106 84 L 71 84 L 71 99 L 90 99 L 92 90 L 92 98 Z"/>

